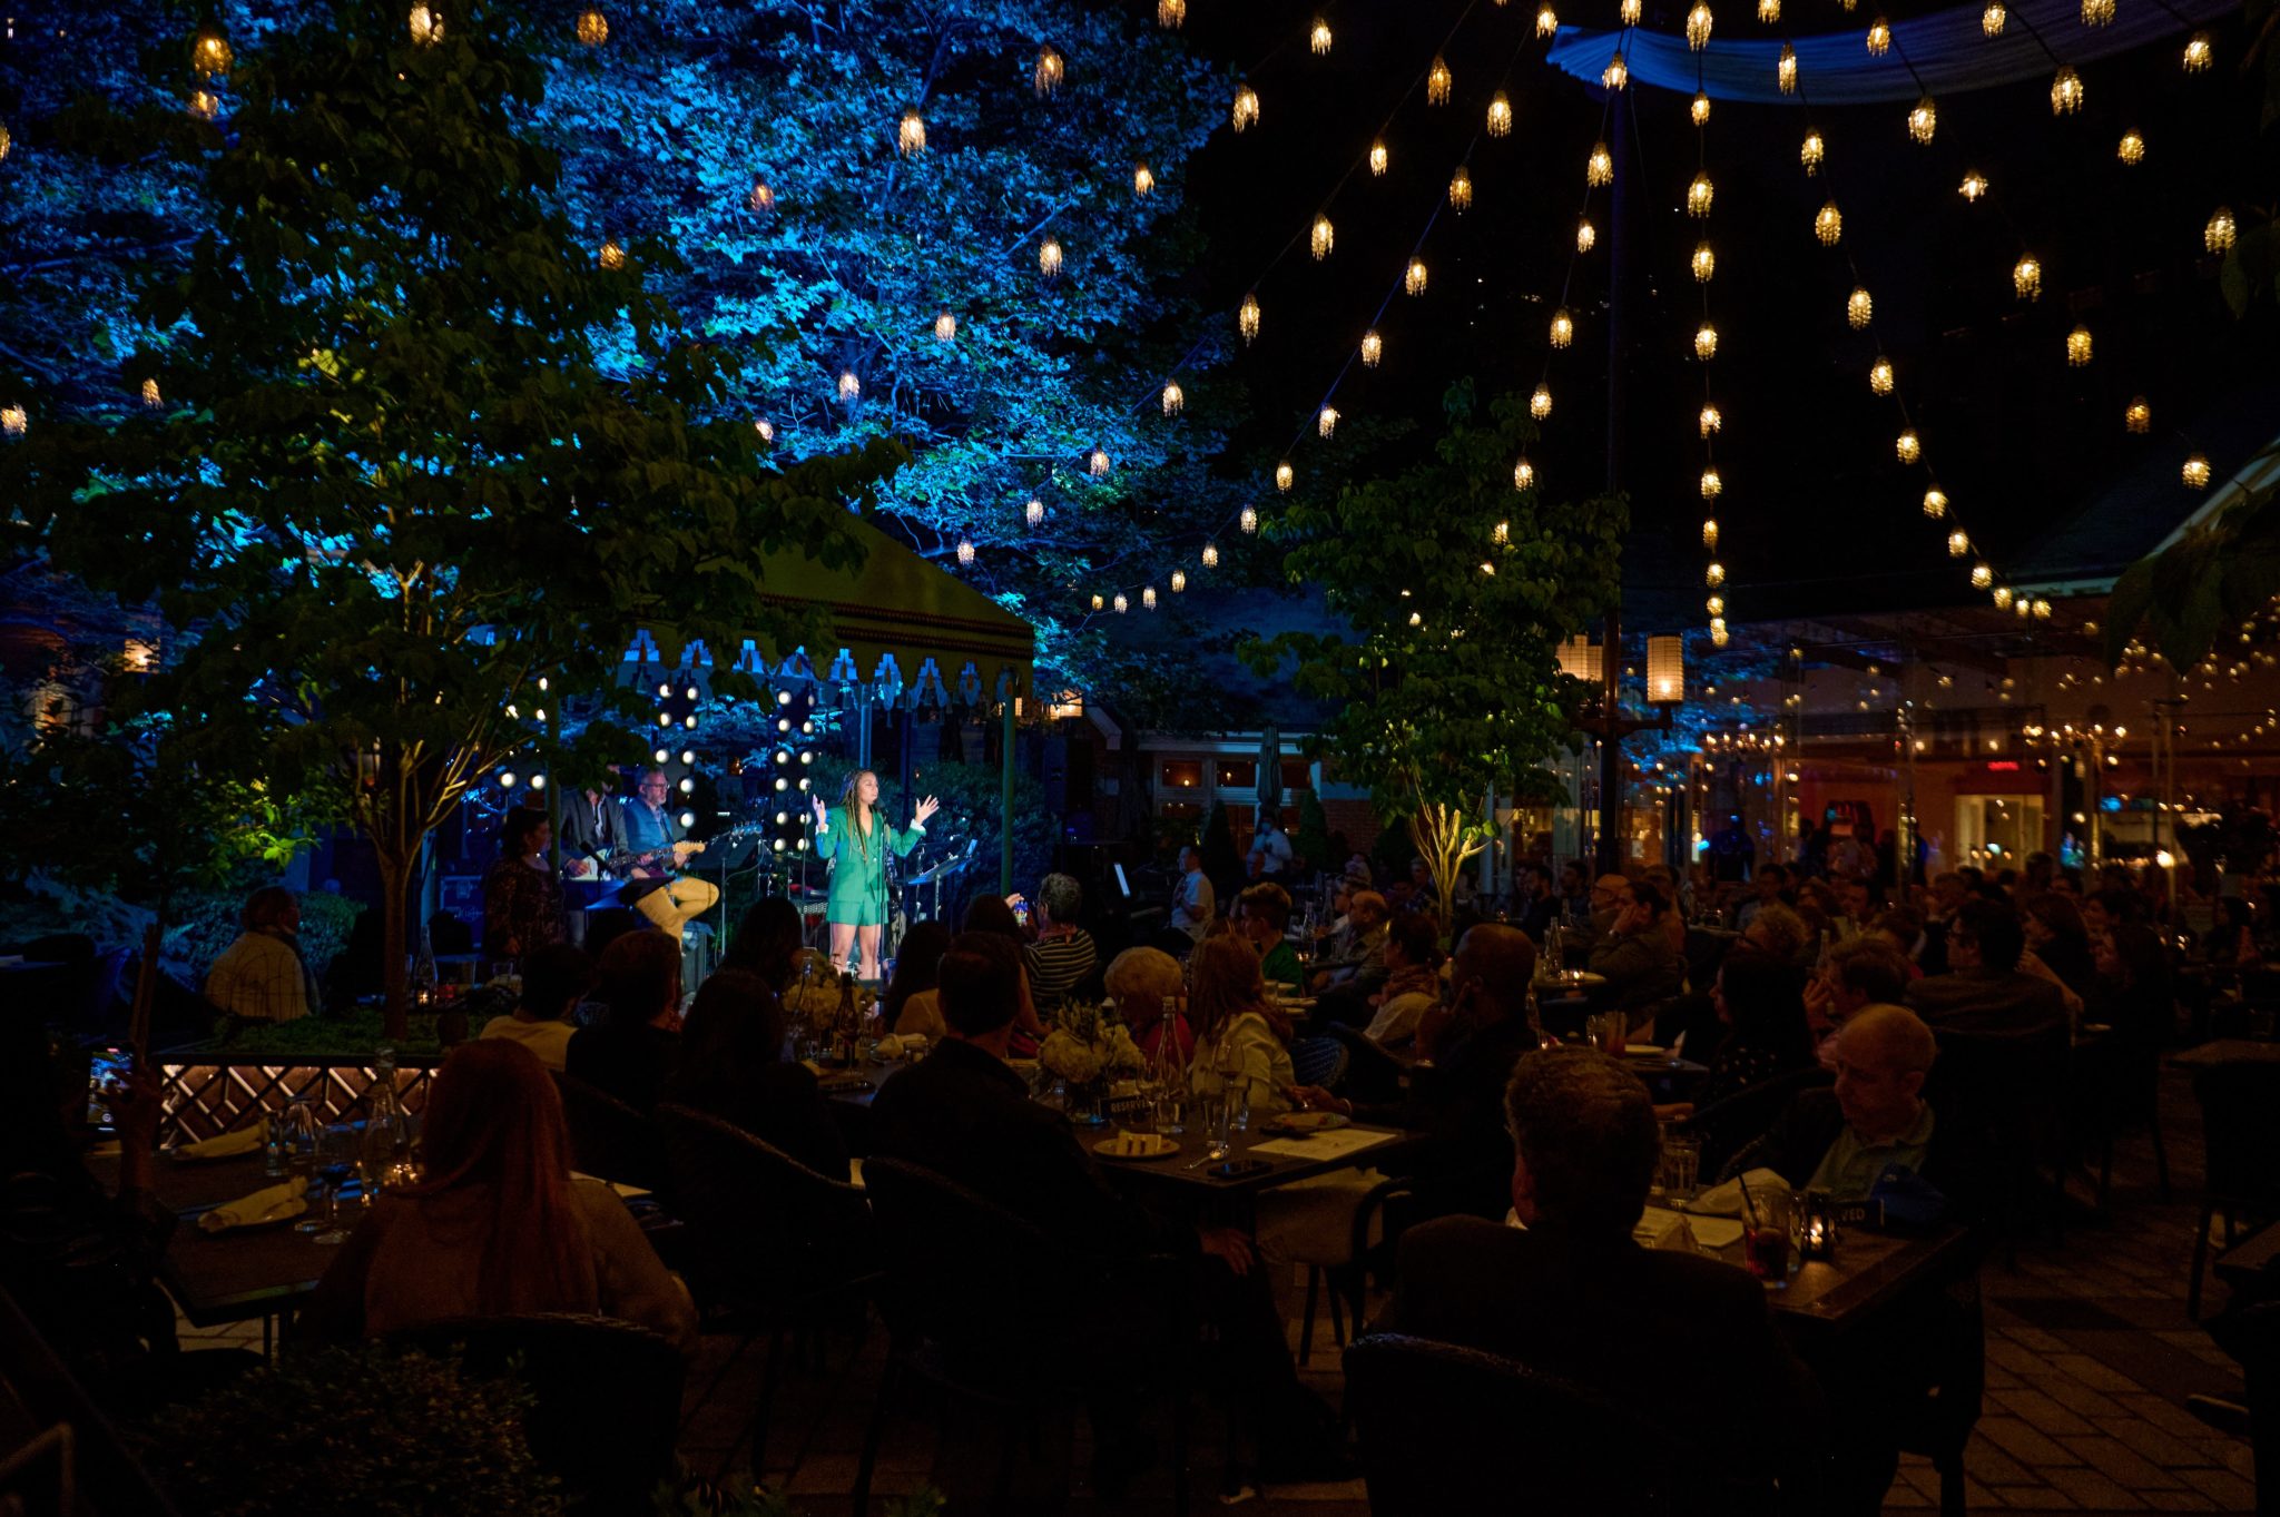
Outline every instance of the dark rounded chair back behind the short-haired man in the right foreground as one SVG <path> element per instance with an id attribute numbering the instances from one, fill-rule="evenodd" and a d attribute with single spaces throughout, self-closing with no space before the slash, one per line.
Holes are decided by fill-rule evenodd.
<path id="1" fill-rule="evenodd" d="M 1370 1517 L 1667 1510 L 1669 1440 L 1612 1399 L 1516 1360 L 1379 1332 L 1345 1348 Z M 1471 1435 L 1450 1437 L 1452 1428 Z M 1491 1435 L 1493 1430 L 1493 1435 Z"/>

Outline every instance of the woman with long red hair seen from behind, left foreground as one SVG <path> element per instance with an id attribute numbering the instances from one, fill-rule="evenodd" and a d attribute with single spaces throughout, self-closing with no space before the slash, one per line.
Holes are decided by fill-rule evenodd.
<path id="1" fill-rule="evenodd" d="M 447 1317 L 584 1312 L 695 1346 L 689 1292 L 634 1214 L 609 1184 L 570 1178 L 561 1098 L 527 1048 L 456 1048 L 435 1075 L 420 1153 L 426 1178 L 383 1194 L 356 1225 L 301 1312 L 301 1335 L 342 1342 Z"/>

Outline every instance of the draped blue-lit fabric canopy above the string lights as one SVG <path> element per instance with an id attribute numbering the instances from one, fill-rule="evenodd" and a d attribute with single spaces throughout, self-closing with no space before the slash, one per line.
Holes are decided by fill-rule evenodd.
<path id="1" fill-rule="evenodd" d="M 2004 0 L 2009 25 L 2002 36 L 1979 32 L 1979 5 L 1959 5 L 1936 16 L 1892 23 L 1892 50 L 1870 57 L 1867 25 L 1872 7 L 1860 7 L 1860 25 L 1849 32 L 1819 32 L 1794 39 L 1797 75 L 1803 98 L 1813 105 L 1870 105 L 1876 100 L 1913 102 L 1922 93 L 1954 96 L 2018 80 L 2047 80 L 2059 64 L 2088 64 L 2116 52 L 2130 52 L 2164 36 L 2237 11 L 2241 0 L 2120 0 L 2109 25 L 2082 25 L 2079 0 Z M 1758 30 L 1749 0 L 1726 0 L 1719 18 L 1733 30 Z M 2041 34 L 2041 43 L 2036 36 Z M 1781 62 L 1781 39 L 1719 41 L 1692 52 L 1685 36 L 1669 32 L 1585 32 L 1560 27 L 1550 64 L 1578 80 L 1598 84 L 1601 71 L 1614 57 L 1617 43 L 1630 68 L 1632 84 L 1694 93 L 1696 80 L 1712 100 L 1749 100 L 1758 105 L 1794 102 L 1783 96 L 1774 75 Z M 2050 52 L 2043 50 L 2050 46 Z M 2057 55 L 2059 64 L 2052 62 Z M 1911 75 L 1911 66 L 1915 73 Z"/>

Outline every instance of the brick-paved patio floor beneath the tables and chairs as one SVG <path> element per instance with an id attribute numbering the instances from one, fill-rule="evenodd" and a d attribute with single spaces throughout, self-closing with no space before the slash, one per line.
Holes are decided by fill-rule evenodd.
<path id="1" fill-rule="evenodd" d="M 1988 1396 L 1968 1453 L 1972 1510 L 2070 1510 L 2070 1512 L 2246 1512 L 2255 1506 L 2248 1442 L 2202 1426 L 2187 1396 L 2241 1396 L 2239 1367 L 2184 1314 L 2187 1266 L 2193 1248 L 2200 1182 L 2200 1114 L 2180 1073 L 2166 1075 L 2161 1091 L 2175 1198 L 2155 1194 L 2152 1143 L 2145 1134 L 2123 1139 L 2114 1171 L 2114 1219 L 2084 1221 L 2061 1241 L 2034 1239 L 2020 1248 L 2018 1269 L 1990 1262 L 1981 1276 L 1988 1305 Z M 2086 1194 L 2077 1182 L 2075 1194 Z M 1008 1310 L 1019 1310 L 1019 1282 L 1008 1282 Z M 2214 1314 L 2225 1287 L 2209 1276 L 2202 1312 Z M 1286 1319 L 1297 1335 L 1300 1292 L 1286 1292 Z M 196 1342 L 242 1344 L 258 1328 L 198 1335 Z M 1316 1351 L 1306 1380 L 1327 1399 L 1341 1394 L 1338 1351 L 1327 1310 L 1316 1323 Z M 725 1339 L 709 1339 L 691 1385 L 711 1380 Z M 848 1510 L 848 1487 L 862 1446 L 864 1421 L 885 1362 L 885 1335 L 873 1330 L 850 1358 L 846 1342 L 832 1342 L 828 1367 L 787 1374 L 768 1433 L 768 1485 L 789 1481 L 793 1510 L 839 1517 Z M 759 1353 L 730 1376 L 723 1392 L 684 1435 L 686 1460 L 705 1474 L 720 1467 L 741 1419 L 759 1389 Z M 1715 1387 L 1703 1387 L 1715 1394 Z M 955 1414 L 953 1414 L 955 1417 Z M 971 1419 L 967 1419 L 971 1421 Z M 1074 1424 L 1074 1426 L 1069 1426 Z M 1081 1417 L 1044 1428 L 1042 1460 L 1019 1462 L 1024 1510 L 1133 1512 L 1172 1510 L 1170 1474 L 1142 1476 L 1122 1499 L 1090 1490 L 1088 1433 Z M 876 1492 L 905 1494 L 926 1483 L 953 1496 L 953 1510 L 987 1506 L 990 1460 L 996 1440 L 987 1428 L 939 1428 L 935 1419 L 907 1410 L 889 1424 Z M 748 1456 L 736 1456 L 732 1478 L 746 1478 Z M 1197 1414 L 1192 1451 L 1195 1510 L 1211 1510 L 1220 1483 L 1218 1419 Z M 1888 1512 L 1927 1510 L 1938 1503 L 1938 1476 L 1922 1460 L 1906 1460 L 1886 1501 Z M 1270 1487 L 1240 1510 L 1259 1517 L 1361 1517 L 1368 1501 L 1361 1481 L 1336 1485 Z"/>

